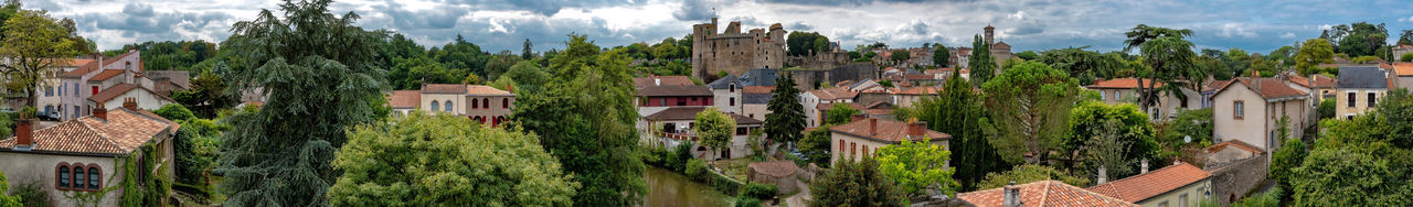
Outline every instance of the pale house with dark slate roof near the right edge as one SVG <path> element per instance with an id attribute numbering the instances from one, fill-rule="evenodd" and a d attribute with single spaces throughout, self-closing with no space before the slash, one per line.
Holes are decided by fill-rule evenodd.
<path id="1" fill-rule="evenodd" d="M 1340 83 L 1335 84 L 1335 117 L 1354 118 L 1378 106 L 1388 94 L 1393 80 L 1389 72 L 1373 66 L 1340 68 Z"/>

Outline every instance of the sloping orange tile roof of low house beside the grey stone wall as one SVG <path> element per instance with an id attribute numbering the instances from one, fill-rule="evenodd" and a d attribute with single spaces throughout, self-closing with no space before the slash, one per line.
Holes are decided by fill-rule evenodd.
<path id="1" fill-rule="evenodd" d="M 1212 173 L 1207 173 L 1194 165 L 1177 163 L 1149 173 L 1098 184 L 1087 190 L 1118 197 L 1129 203 L 1142 203 L 1150 197 L 1207 180 L 1211 176 Z"/>

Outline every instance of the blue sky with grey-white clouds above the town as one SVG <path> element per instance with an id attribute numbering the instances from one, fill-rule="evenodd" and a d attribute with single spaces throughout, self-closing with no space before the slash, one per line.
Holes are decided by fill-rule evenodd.
<path id="1" fill-rule="evenodd" d="M 146 41 L 222 41 L 230 25 L 260 10 L 278 13 L 281 0 L 21 0 L 24 8 L 73 18 L 79 35 L 99 49 Z M 721 28 L 781 24 L 815 31 L 853 49 L 885 42 L 893 48 L 940 42 L 971 46 L 972 35 L 995 25 L 996 38 L 1020 51 L 1089 46 L 1122 49 L 1137 24 L 1188 28 L 1200 49 L 1242 48 L 1266 54 L 1318 38 L 1331 25 L 1385 23 L 1389 42 L 1413 30 L 1409 0 L 338 0 L 335 14 L 353 11 L 366 30 L 393 30 L 424 46 L 463 35 L 489 52 L 564 48 L 568 34 L 601 46 L 656 44 L 681 38 L 691 25 L 718 17 Z"/>

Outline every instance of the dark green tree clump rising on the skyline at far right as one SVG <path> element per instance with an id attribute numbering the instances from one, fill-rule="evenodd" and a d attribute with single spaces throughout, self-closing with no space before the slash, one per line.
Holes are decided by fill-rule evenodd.
<path id="1" fill-rule="evenodd" d="M 1334 52 L 1349 56 L 1375 55 L 1386 44 L 1389 30 L 1383 23 L 1369 24 L 1365 21 L 1340 24 L 1320 32 L 1320 38 L 1334 44 Z"/>

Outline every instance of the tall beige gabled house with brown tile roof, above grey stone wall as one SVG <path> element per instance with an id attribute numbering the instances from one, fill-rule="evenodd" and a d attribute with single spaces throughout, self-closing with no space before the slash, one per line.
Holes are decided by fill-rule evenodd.
<path id="1" fill-rule="evenodd" d="M 1212 94 L 1214 142 L 1242 141 L 1272 152 L 1280 148 L 1277 125 L 1282 117 L 1290 117 L 1290 137 L 1304 135 L 1308 120 L 1308 94 L 1296 90 L 1275 77 L 1236 77 L 1217 83 Z"/>

